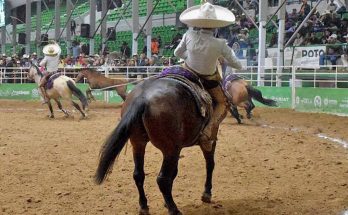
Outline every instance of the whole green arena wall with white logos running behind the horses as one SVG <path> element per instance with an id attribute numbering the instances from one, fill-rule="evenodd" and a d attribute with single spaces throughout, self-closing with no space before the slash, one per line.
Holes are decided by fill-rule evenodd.
<path id="1" fill-rule="evenodd" d="M 88 85 L 78 84 L 78 87 L 85 91 Z M 130 84 L 128 91 L 132 88 L 133 85 Z M 292 87 L 257 88 L 262 91 L 264 97 L 276 100 L 280 108 L 348 115 L 348 93 L 344 88 L 296 88 L 295 93 Z M 122 102 L 121 97 L 115 91 L 93 91 L 93 95 L 100 101 Z M 1 84 L 0 99 L 39 100 L 40 96 L 36 84 Z M 258 102 L 255 104 L 262 106 Z"/>

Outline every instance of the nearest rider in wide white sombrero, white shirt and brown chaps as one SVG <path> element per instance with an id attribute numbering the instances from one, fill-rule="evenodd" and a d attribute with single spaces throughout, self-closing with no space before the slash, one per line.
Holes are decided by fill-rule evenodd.
<path id="1" fill-rule="evenodd" d="M 227 65 L 241 69 L 233 50 L 226 40 L 214 37 L 216 28 L 225 27 L 235 21 L 235 16 L 228 9 L 204 3 L 186 9 L 180 15 L 180 21 L 198 30 L 189 29 L 184 35 L 174 54 L 184 59 L 183 67 L 203 79 L 203 85 L 216 103 L 212 119 L 200 137 L 201 146 L 211 151 L 217 139 L 217 129 L 226 116 L 226 98 L 220 86 L 221 75 L 216 70 L 217 62 L 223 57 Z"/>

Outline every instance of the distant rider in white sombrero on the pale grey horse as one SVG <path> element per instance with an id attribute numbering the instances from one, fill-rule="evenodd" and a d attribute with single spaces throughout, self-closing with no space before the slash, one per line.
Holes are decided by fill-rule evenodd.
<path id="1" fill-rule="evenodd" d="M 45 104 L 49 101 L 45 85 L 51 75 L 58 71 L 61 49 L 55 41 L 50 41 L 50 43 L 43 48 L 42 52 L 44 53 L 45 57 L 42 59 L 39 65 L 41 67 L 46 67 L 46 72 L 44 72 L 44 77 L 42 77 L 39 87 L 42 96 L 44 97 Z"/>

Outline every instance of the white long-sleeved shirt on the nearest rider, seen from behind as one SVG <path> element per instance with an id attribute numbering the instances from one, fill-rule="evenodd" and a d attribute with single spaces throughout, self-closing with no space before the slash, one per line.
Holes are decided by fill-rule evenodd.
<path id="1" fill-rule="evenodd" d="M 204 29 L 188 30 L 175 49 L 174 55 L 184 59 L 190 68 L 201 75 L 214 74 L 219 57 L 224 57 L 227 65 L 241 69 L 242 64 L 226 40 L 215 38 L 213 34 L 213 31 Z"/>

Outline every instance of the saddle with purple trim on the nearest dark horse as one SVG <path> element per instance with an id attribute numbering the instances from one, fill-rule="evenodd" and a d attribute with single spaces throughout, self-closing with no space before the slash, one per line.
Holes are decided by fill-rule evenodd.
<path id="1" fill-rule="evenodd" d="M 205 124 L 210 120 L 213 113 L 213 101 L 198 76 L 181 66 L 173 66 L 164 69 L 158 78 L 174 80 L 188 89 L 195 99 L 198 111 L 205 118 Z"/>

